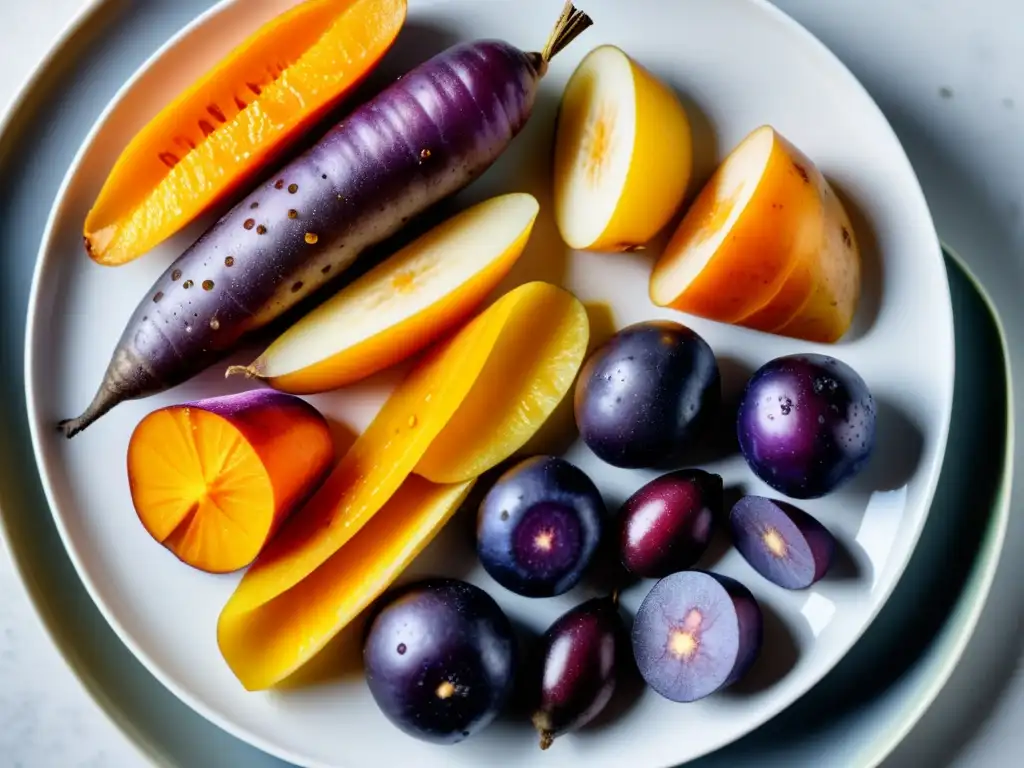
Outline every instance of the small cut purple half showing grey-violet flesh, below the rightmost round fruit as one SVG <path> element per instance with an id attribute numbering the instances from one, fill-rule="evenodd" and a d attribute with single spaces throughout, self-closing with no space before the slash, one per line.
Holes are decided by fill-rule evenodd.
<path id="1" fill-rule="evenodd" d="M 751 566 L 772 584 L 788 590 L 807 589 L 831 566 L 836 539 L 818 520 L 792 504 L 746 496 L 729 513 L 732 541 Z M 772 534 L 782 542 L 779 552 L 766 543 Z M 778 545 L 775 545 L 778 546 Z"/>

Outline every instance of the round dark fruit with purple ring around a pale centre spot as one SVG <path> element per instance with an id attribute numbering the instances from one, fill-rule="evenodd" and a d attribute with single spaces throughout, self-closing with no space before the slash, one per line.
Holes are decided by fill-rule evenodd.
<path id="1" fill-rule="evenodd" d="M 476 551 L 506 589 L 553 597 L 583 578 L 601 539 L 604 502 L 564 459 L 526 459 L 498 478 L 480 503 Z"/>

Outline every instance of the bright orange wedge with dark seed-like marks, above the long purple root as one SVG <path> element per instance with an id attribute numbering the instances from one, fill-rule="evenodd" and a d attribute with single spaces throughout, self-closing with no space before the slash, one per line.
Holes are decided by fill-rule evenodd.
<path id="1" fill-rule="evenodd" d="M 97 262 L 122 264 L 250 180 L 362 81 L 406 0 L 307 0 L 263 25 L 132 139 L 85 220 Z"/>

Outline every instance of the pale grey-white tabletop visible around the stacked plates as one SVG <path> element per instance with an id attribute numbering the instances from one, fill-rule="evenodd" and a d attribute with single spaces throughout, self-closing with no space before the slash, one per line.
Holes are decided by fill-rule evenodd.
<path id="1" fill-rule="evenodd" d="M 0 0 L 0 104 L 84 2 Z M 1024 3 L 777 4 L 824 40 L 880 101 L 922 178 L 940 234 L 967 256 L 1011 319 L 1014 366 L 1024 371 L 1024 322 L 1013 322 L 1024 314 Z M 1022 494 L 1018 487 L 1015 510 Z M 890 768 L 1020 765 L 1024 558 L 1014 553 L 1022 546 L 1024 517 L 1015 515 L 982 628 Z M 136 765 L 143 760 L 63 666 L 0 550 L 0 768 Z"/>

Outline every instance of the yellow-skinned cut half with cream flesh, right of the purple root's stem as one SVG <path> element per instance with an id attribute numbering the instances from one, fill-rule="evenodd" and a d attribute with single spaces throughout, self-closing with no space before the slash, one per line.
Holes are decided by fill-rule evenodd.
<path id="1" fill-rule="evenodd" d="M 689 184 L 689 119 L 671 88 L 621 49 L 583 59 L 562 96 L 555 218 L 570 248 L 623 251 L 654 237 Z"/>

